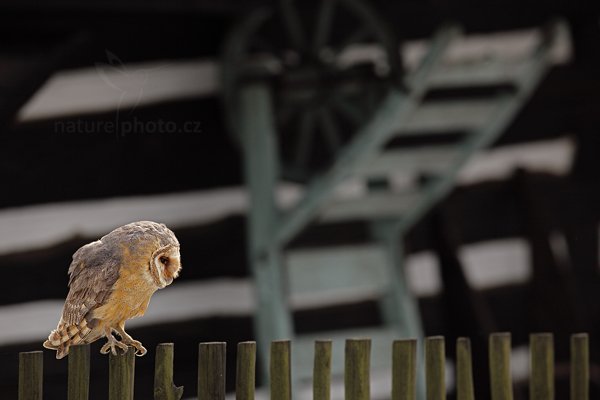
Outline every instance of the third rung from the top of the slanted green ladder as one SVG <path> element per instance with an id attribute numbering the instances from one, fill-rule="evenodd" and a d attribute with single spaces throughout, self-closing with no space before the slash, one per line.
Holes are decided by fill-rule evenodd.
<path id="1" fill-rule="evenodd" d="M 392 149 L 377 155 L 357 172 L 361 176 L 440 172 L 454 160 L 458 151 L 457 145 Z"/>

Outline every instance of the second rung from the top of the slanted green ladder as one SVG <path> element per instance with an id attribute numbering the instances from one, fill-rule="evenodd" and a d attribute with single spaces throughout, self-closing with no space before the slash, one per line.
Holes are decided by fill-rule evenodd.
<path id="1" fill-rule="evenodd" d="M 418 107 L 398 130 L 411 133 L 445 133 L 480 128 L 493 116 L 505 97 L 430 101 Z"/>

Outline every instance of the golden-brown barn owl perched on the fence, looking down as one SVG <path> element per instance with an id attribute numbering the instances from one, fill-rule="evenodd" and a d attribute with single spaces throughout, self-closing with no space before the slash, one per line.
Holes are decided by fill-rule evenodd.
<path id="1" fill-rule="evenodd" d="M 44 347 L 63 358 L 72 345 L 106 337 L 102 354 L 131 346 L 143 356 L 146 349 L 125 332 L 125 321 L 144 315 L 152 294 L 180 270 L 179 242 L 164 224 L 133 222 L 86 244 L 73 254 L 69 294 Z"/>

